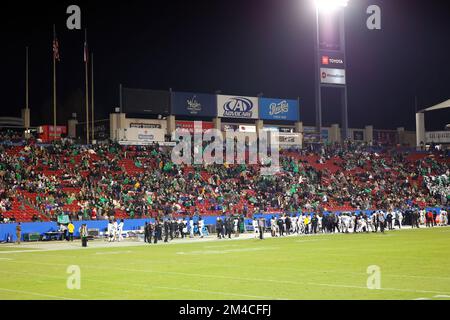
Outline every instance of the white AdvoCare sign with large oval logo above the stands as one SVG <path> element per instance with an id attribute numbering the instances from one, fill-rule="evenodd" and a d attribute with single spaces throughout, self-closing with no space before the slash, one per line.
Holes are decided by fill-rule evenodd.
<path id="1" fill-rule="evenodd" d="M 218 95 L 217 116 L 221 118 L 258 119 L 258 98 Z"/>

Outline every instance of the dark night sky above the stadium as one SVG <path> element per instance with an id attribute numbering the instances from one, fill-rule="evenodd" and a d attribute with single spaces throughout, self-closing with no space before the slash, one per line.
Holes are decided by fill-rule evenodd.
<path id="1" fill-rule="evenodd" d="M 0 116 L 25 105 L 25 47 L 30 47 L 32 125 L 52 123 L 52 25 L 56 24 L 58 123 L 83 119 L 84 31 L 66 28 L 78 4 L 94 52 L 96 118 L 118 106 L 126 87 L 301 99 L 314 125 L 312 0 L 16 1 L 0 10 Z M 382 30 L 366 28 L 366 8 L 382 10 Z M 450 98 L 448 1 L 350 0 L 346 8 L 349 126 L 415 129 L 420 109 Z M 323 97 L 324 125 L 340 121 L 337 92 Z M 428 115 L 427 129 L 450 123 Z"/>

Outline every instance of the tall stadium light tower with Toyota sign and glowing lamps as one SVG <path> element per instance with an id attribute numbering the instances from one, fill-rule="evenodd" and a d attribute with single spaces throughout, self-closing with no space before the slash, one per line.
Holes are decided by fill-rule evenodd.
<path id="1" fill-rule="evenodd" d="M 345 54 L 345 21 L 344 8 L 349 0 L 314 0 L 316 7 L 316 131 L 321 140 L 322 131 L 322 88 L 334 87 L 341 89 L 342 132 L 341 138 L 348 138 L 347 85 L 346 85 L 346 54 Z M 339 23 L 339 41 L 333 46 L 321 43 L 320 14 L 337 14 Z M 331 19 L 331 16 L 330 16 Z M 337 40 L 337 39 L 334 39 Z M 325 41 L 326 42 L 326 41 Z"/>

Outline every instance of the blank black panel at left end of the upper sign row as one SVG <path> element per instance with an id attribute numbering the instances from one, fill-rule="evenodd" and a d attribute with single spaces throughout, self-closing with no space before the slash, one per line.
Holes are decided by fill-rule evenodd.
<path id="1" fill-rule="evenodd" d="M 122 99 L 124 113 L 170 114 L 170 93 L 168 91 L 124 88 Z"/>

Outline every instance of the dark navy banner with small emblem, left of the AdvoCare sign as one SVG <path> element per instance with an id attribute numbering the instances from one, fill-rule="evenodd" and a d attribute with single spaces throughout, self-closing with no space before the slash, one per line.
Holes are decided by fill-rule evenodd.
<path id="1" fill-rule="evenodd" d="M 176 116 L 217 116 L 215 95 L 204 93 L 173 92 L 172 114 Z"/>

